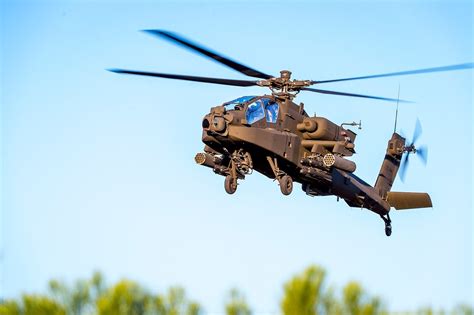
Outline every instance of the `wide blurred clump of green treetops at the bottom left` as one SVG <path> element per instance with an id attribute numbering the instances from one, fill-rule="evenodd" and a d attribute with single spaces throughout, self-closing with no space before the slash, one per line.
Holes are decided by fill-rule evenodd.
<path id="1" fill-rule="evenodd" d="M 199 315 L 201 306 L 189 301 L 183 288 L 153 295 L 139 284 L 121 280 L 107 287 L 100 273 L 72 287 L 49 282 L 50 296 L 23 295 L 20 301 L 0 302 L 0 315 Z"/>

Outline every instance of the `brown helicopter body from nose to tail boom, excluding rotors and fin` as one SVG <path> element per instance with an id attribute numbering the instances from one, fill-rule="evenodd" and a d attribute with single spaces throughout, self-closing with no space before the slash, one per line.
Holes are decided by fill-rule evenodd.
<path id="1" fill-rule="evenodd" d="M 251 170 L 273 179 L 288 176 L 308 195 L 335 195 L 380 215 L 390 211 L 375 188 L 353 174 L 356 165 L 346 157 L 355 153 L 354 132 L 323 117 L 309 117 L 303 104 L 289 98 L 244 99 L 214 107 L 204 117 L 208 163 L 202 156 L 196 156 L 196 162 L 235 181 Z M 271 106 L 277 110 L 268 110 Z"/>

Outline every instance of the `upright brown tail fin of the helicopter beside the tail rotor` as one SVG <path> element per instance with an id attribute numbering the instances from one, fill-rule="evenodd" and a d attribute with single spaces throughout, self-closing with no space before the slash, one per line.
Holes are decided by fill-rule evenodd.
<path id="1" fill-rule="evenodd" d="M 375 182 L 375 190 L 384 199 L 386 199 L 387 193 L 392 189 L 393 182 L 397 176 L 404 146 L 405 138 L 394 132 L 392 138 L 388 141 L 385 159 Z"/>

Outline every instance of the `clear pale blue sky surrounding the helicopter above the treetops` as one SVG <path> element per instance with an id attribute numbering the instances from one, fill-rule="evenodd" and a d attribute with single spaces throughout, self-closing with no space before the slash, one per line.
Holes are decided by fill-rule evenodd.
<path id="1" fill-rule="evenodd" d="M 472 300 L 472 73 L 406 76 L 325 88 L 415 101 L 399 127 L 423 125 L 396 191 L 434 208 L 393 213 L 393 235 L 336 198 L 290 197 L 254 174 L 235 195 L 195 165 L 209 108 L 260 88 L 120 76 L 106 68 L 243 78 L 142 29 L 166 29 L 263 72 L 324 80 L 473 60 L 472 2 L 1 3 L 1 295 L 44 291 L 101 270 L 163 291 L 183 285 L 208 312 L 238 287 L 258 313 L 309 264 L 329 282 L 360 281 L 391 309 Z M 362 120 L 354 157 L 373 183 L 394 105 L 301 93 L 308 112 Z M 210 198 L 208 192 L 213 197 Z"/>

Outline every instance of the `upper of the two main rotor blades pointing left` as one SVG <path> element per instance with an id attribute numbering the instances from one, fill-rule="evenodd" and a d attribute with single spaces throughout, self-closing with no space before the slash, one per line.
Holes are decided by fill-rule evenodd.
<path id="1" fill-rule="evenodd" d="M 163 31 L 163 30 L 144 30 L 144 32 L 147 32 L 149 34 L 155 35 L 162 37 L 168 41 L 171 41 L 175 44 L 181 45 L 187 49 L 190 49 L 194 52 L 197 52 L 201 55 L 204 55 L 206 57 L 209 57 L 213 59 L 214 61 L 217 61 L 229 68 L 232 68 L 240 73 L 243 73 L 247 76 L 250 77 L 255 77 L 255 78 L 261 78 L 261 79 L 270 79 L 273 76 L 265 74 L 263 72 L 260 72 L 258 70 L 252 69 L 250 67 L 244 66 L 243 64 L 240 64 L 236 61 L 230 60 L 224 56 L 221 56 L 220 54 L 213 52 L 207 48 L 204 48 L 202 46 L 199 46 L 195 43 L 190 42 L 189 40 L 178 36 L 174 33 L 168 32 L 168 31 Z"/>

